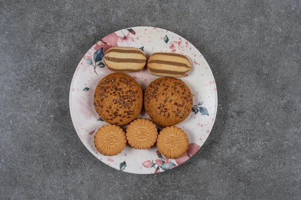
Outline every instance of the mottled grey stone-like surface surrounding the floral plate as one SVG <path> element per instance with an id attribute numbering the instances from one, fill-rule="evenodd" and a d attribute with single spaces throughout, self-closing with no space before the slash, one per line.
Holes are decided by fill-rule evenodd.
<path id="1" fill-rule="evenodd" d="M 301 199 L 300 0 L 0 0 L 1 199 Z M 113 169 L 78 138 L 69 86 L 84 53 L 157 26 L 204 55 L 212 132 L 180 167 Z"/>

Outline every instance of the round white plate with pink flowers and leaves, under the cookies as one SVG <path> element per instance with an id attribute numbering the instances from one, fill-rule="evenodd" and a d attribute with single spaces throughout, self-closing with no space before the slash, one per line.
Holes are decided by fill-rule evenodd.
<path id="1" fill-rule="evenodd" d="M 97 129 L 105 124 L 93 106 L 93 95 L 97 83 L 112 73 L 103 64 L 103 53 L 111 46 L 129 46 L 142 49 L 149 57 L 155 52 L 175 52 L 186 55 L 192 63 L 192 70 L 181 77 L 193 93 L 193 108 L 190 115 L 177 126 L 188 135 L 188 151 L 177 159 L 164 157 L 156 145 L 139 150 L 126 145 L 118 155 L 105 156 L 94 146 Z M 96 63 L 95 63 L 96 61 Z M 145 67 L 142 71 L 127 73 L 141 85 L 147 85 L 159 78 Z M 95 43 L 80 60 L 70 87 L 70 113 L 75 130 L 88 150 L 105 164 L 130 173 L 158 173 L 182 164 L 193 156 L 207 139 L 217 110 L 217 89 L 212 71 L 205 58 L 189 41 L 180 35 L 157 27 L 131 27 L 113 32 Z M 142 109 L 138 118 L 149 118 Z M 157 124 L 158 125 L 158 124 Z M 121 126 L 126 128 L 126 125 Z M 162 129 L 159 125 L 159 129 Z"/>

